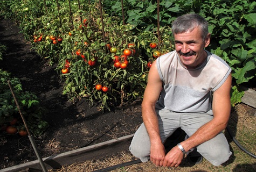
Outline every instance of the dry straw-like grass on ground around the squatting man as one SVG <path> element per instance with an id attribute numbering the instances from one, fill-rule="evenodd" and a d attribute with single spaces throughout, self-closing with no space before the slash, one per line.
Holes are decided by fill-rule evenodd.
<path id="1" fill-rule="evenodd" d="M 251 153 L 256 153 L 256 117 L 250 114 L 250 107 L 246 105 L 237 105 L 236 111 L 232 112 L 229 127 L 233 133 L 236 133 L 236 139 Z M 133 164 L 131 166 L 120 167 L 112 171 L 256 171 L 256 159 L 240 150 L 236 144 L 231 140 L 230 135 L 225 132 L 227 139 L 230 141 L 231 150 L 233 152 L 229 161 L 223 166 L 215 167 L 207 160 L 203 159 L 203 162 L 191 166 L 186 160 L 177 168 L 156 167 L 150 161 L 146 163 Z M 124 162 L 133 161 L 135 158 L 128 152 L 121 152 L 119 155 L 112 155 L 103 157 L 102 159 L 95 159 L 91 161 L 85 161 L 81 163 L 75 163 L 71 166 L 63 166 L 58 172 L 74 172 L 74 171 L 94 171 L 107 167 L 115 166 Z"/>

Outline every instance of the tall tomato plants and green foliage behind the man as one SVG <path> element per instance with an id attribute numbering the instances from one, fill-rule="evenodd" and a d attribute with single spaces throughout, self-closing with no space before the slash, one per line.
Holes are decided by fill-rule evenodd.
<path id="1" fill-rule="evenodd" d="M 56 65 L 65 81 L 64 94 L 72 100 L 87 97 L 92 103 L 101 102 L 101 109 L 143 96 L 148 62 L 155 60 L 153 52 L 174 50 L 171 22 L 185 13 L 199 13 L 209 22 L 212 36 L 207 50 L 232 68 L 232 105 L 243 96 L 240 86 L 255 81 L 254 1 L 161 1 L 159 37 L 157 1 L 123 1 L 124 21 L 121 1 L 102 1 L 101 5 L 102 18 L 98 1 L 62 0 L 58 8 L 51 0 L 7 0 L 0 4 L 0 10 L 4 17 L 18 22 L 25 38 L 49 65 Z M 62 40 L 53 44 L 51 36 Z M 151 42 L 156 42 L 157 48 L 150 48 Z M 117 52 L 111 53 L 106 44 L 116 47 Z M 134 46 L 129 48 L 129 44 Z M 114 56 L 121 56 L 127 48 L 134 51 L 128 57 L 129 64 L 126 69 L 117 69 Z M 96 65 L 90 66 L 89 60 L 95 60 Z M 62 74 L 67 63 L 69 73 Z M 96 90 L 96 84 L 108 87 L 108 91 Z"/>

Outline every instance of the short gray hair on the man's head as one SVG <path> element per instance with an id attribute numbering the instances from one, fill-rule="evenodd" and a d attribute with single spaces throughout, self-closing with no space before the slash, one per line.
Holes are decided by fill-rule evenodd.
<path id="1" fill-rule="evenodd" d="M 188 14 L 179 16 L 172 23 L 172 34 L 190 32 L 195 27 L 199 27 L 202 31 L 203 40 L 206 39 L 208 32 L 208 23 L 202 16 L 198 14 Z"/>

